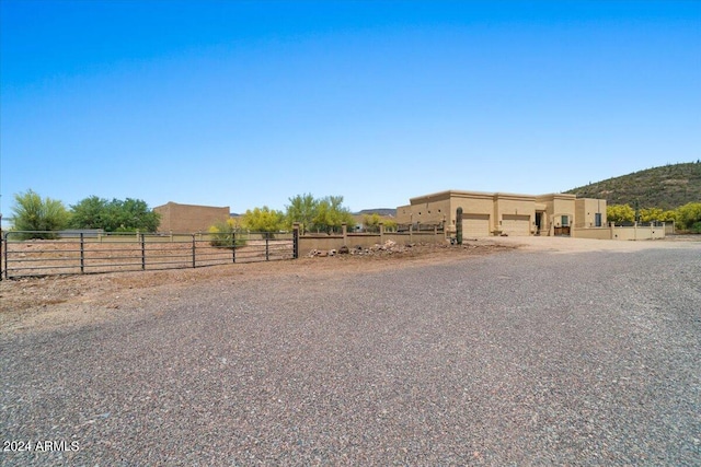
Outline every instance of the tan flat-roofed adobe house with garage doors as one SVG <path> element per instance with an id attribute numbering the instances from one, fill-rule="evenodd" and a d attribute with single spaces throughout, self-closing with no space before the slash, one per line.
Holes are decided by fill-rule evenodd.
<path id="1" fill-rule="evenodd" d="M 570 235 L 572 227 L 605 227 L 606 200 L 575 195 L 515 195 L 448 190 L 410 199 L 397 208 L 399 224 L 443 224 L 455 232 L 462 208 L 467 237 L 490 235 Z"/>

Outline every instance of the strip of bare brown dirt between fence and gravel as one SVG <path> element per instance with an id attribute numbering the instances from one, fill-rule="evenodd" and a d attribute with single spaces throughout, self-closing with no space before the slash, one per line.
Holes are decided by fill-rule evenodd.
<path id="1" fill-rule="evenodd" d="M 520 249 L 552 254 L 588 250 L 635 252 L 651 247 L 701 246 L 701 238 L 620 242 L 553 237 L 495 237 L 469 240 L 462 246 L 414 245 L 401 253 L 378 252 L 369 256 L 337 255 L 297 260 L 211 266 L 146 272 L 111 272 L 2 280 L 0 282 L 0 334 L 33 331 L 72 325 L 96 324 L 139 302 L 176 296 L 193 284 L 227 281 L 244 283 L 272 275 L 324 278 L 384 269 L 421 267 L 473 256 Z M 698 249 L 697 249 L 698 250 Z"/>

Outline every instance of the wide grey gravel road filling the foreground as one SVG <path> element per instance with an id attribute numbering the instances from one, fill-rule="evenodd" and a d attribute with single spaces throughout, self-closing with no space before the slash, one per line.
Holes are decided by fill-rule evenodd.
<path id="1" fill-rule="evenodd" d="M 0 464 L 701 465 L 698 243 L 186 291 L 0 335 Z"/>

